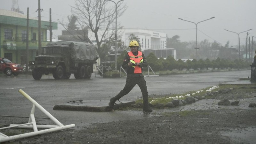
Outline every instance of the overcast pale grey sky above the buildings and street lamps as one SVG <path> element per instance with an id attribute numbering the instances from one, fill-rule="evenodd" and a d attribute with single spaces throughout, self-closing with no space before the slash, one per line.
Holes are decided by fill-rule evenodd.
<path id="1" fill-rule="evenodd" d="M 0 2 L 0 9 L 11 10 L 12 0 Z M 38 0 L 18 0 L 18 4 L 25 15 L 29 7 L 30 15 L 38 16 Z M 49 20 L 49 9 L 52 8 L 52 21 L 67 21 L 73 4 L 74 0 L 41 0 L 42 20 Z M 124 0 L 124 4 L 127 10 L 117 19 L 121 26 L 165 32 L 168 37 L 179 35 L 181 42 L 196 41 L 196 25 L 178 18 L 197 23 L 215 17 L 197 25 L 197 42 L 207 39 L 222 45 L 227 41 L 237 45 L 237 34 L 224 29 L 240 33 L 252 28 L 249 36 L 256 36 L 256 0 Z M 61 30 L 64 28 L 58 25 L 53 38 L 57 38 Z M 241 45 L 244 44 L 246 32 L 239 37 Z"/>

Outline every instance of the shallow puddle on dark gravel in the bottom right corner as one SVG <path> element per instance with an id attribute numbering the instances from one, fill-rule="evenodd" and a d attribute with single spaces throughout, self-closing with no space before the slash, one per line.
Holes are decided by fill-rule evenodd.
<path id="1" fill-rule="evenodd" d="M 245 128 L 242 130 L 236 129 L 232 132 L 221 132 L 221 135 L 230 137 L 238 143 L 251 144 L 256 141 L 256 128 Z"/>

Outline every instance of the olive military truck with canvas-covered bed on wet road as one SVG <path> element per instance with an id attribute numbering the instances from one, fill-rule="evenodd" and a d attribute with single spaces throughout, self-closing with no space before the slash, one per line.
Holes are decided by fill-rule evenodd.
<path id="1" fill-rule="evenodd" d="M 42 48 L 42 54 L 29 62 L 32 76 L 40 80 L 42 75 L 52 73 L 54 79 L 69 79 L 71 73 L 76 79 L 89 79 L 93 64 L 99 55 L 93 44 L 84 42 L 50 42 Z"/>

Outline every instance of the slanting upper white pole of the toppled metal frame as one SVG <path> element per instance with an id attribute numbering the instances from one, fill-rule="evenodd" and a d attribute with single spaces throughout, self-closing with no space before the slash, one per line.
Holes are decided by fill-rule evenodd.
<path id="1" fill-rule="evenodd" d="M 53 117 L 47 110 L 45 110 L 40 104 L 38 104 L 33 98 L 26 94 L 22 89 L 19 90 L 20 94 L 32 102 L 39 110 L 41 110 L 46 116 L 48 116 L 56 125 L 63 126 L 55 117 Z"/>

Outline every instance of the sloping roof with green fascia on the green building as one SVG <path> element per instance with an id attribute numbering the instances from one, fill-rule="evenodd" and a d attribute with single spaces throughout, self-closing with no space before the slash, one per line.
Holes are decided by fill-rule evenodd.
<path id="1" fill-rule="evenodd" d="M 15 12 L 0 9 L 0 24 L 7 24 L 7 25 L 17 25 L 17 26 L 27 26 L 27 16 Z M 50 22 L 48 21 L 41 21 L 41 28 L 49 29 Z M 38 20 L 35 18 L 29 18 L 29 27 L 38 27 Z M 52 29 L 57 29 L 58 23 L 52 22 Z"/>

